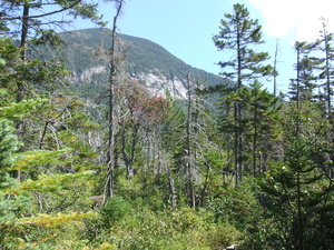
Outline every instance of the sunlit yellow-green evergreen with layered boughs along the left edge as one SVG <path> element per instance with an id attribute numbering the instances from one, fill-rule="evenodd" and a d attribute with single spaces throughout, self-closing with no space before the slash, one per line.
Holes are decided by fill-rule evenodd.
<path id="1" fill-rule="evenodd" d="M 49 242 L 45 243 L 41 239 L 49 239 L 52 234 L 50 228 L 66 227 L 70 221 L 94 216 L 88 212 L 91 203 L 87 197 L 92 194 L 96 177 L 95 172 L 87 170 L 96 167 L 92 163 L 96 153 L 87 143 L 80 143 L 80 140 L 82 133 L 86 134 L 87 129 L 95 124 L 89 123 L 89 117 L 78 111 L 78 107 L 82 108 L 79 101 L 68 102 L 68 99 L 60 99 L 59 96 L 55 99 L 41 99 L 37 89 L 31 89 L 33 97 L 30 99 L 16 102 L 18 81 L 48 82 L 55 76 L 52 69 L 39 60 L 26 63 L 20 58 L 20 50 L 9 39 L 1 38 L 1 246 L 17 249 L 18 246 L 28 248 L 45 244 L 48 248 Z M 39 69 L 39 66 L 43 67 Z M 58 67 L 53 68 L 57 72 Z M 11 126 L 12 121 L 22 119 L 29 123 L 26 126 L 24 137 L 19 137 L 26 146 L 18 143 Z M 85 128 L 79 124 L 80 121 L 85 123 Z M 19 146 L 20 152 L 13 153 Z M 9 173 L 13 171 L 22 172 L 18 176 L 20 179 L 14 181 L 10 177 Z M 76 171 L 80 172 L 73 173 Z M 86 183 L 85 187 L 82 182 Z M 78 210 L 82 213 L 78 213 Z M 39 233 L 35 227 L 41 227 Z"/>

